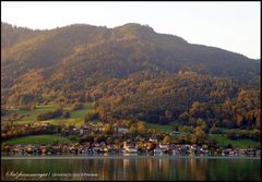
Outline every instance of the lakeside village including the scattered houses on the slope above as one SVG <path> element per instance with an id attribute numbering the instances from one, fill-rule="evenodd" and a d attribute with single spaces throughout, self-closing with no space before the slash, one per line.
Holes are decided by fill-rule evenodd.
<path id="1" fill-rule="evenodd" d="M 48 125 L 48 124 L 45 124 Z M 99 123 L 91 123 L 81 129 L 67 128 L 66 133 L 79 134 L 80 136 L 87 136 L 92 132 L 105 132 Z M 117 126 L 114 136 L 121 136 L 123 141 L 106 142 L 106 141 L 87 141 L 82 139 L 74 144 L 52 144 L 52 145 L 11 145 L 5 144 L 1 146 L 2 156 L 45 156 L 45 155 L 168 155 L 168 156 L 255 156 L 261 157 L 261 149 L 246 148 L 240 149 L 236 147 L 211 147 L 207 145 L 196 144 L 175 144 L 171 142 L 163 142 L 157 137 L 144 137 L 138 135 L 136 137 L 128 137 L 129 129 Z M 169 133 L 170 136 L 179 134 L 178 131 Z"/>

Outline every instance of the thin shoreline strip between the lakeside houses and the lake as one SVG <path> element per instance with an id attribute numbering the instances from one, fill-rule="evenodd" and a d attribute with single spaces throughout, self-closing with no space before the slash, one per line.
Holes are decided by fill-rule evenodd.
<path id="1" fill-rule="evenodd" d="M 1 156 L 1 160 L 20 159 L 260 159 L 247 156 Z"/>

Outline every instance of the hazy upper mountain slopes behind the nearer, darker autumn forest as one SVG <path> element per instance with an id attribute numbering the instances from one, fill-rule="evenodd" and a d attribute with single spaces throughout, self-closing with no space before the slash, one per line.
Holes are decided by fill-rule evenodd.
<path id="1" fill-rule="evenodd" d="M 260 75 L 260 61 L 218 48 L 188 44 L 180 37 L 157 34 L 139 24 L 116 28 L 75 24 L 32 31 L 2 23 L 1 32 L 2 75 L 15 72 L 12 80 L 31 70 L 50 66 L 106 76 L 127 76 L 141 70 L 177 73 L 184 69 L 240 80 Z M 107 66 L 109 69 L 105 70 Z"/>

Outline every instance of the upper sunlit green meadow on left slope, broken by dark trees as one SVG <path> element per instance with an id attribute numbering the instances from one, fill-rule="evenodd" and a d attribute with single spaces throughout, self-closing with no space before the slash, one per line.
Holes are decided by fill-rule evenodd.
<path id="1" fill-rule="evenodd" d="M 66 125 L 75 125 L 81 126 L 84 124 L 84 117 L 86 113 L 94 110 L 94 106 L 92 104 L 84 105 L 84 108 L 81 110 L 70 111 L 70 108 L 66 108 L 69 110 L 70 118 L 66 119 L 62 117 L 50 119 L 46 121 L 36 121 L 37 114 L 46 111 L 52 111 L 58 107 L 58 105 L 53 102 L 49 102 L 48 105 L 37 106 L 35 110 L 22 110 L 22 109 L 10 109 L 8 110 L 7 116 L 10 116 L 14 112 L 19 114 L 24 114 L 25 117 L 16 120 L 15 122 L 19 124 L 31 123 L 31 122 L 38 122 L 38 123 L 50 123 L 50 124 L 66 124 Z"/>

